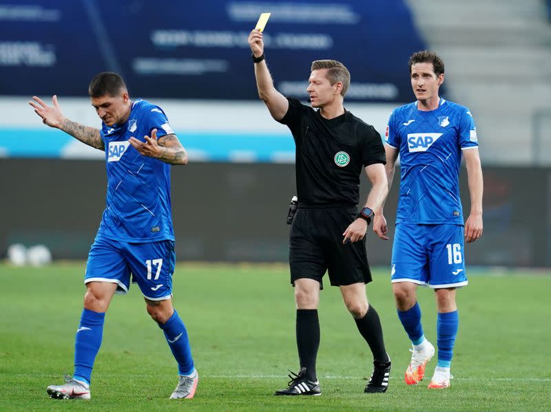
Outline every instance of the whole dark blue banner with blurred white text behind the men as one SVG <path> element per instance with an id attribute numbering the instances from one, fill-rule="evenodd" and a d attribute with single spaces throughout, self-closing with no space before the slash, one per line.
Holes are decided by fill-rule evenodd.
<path id="1" fill-rule="evenodd" d="M 351 72 L 347 100 L 411 100 L 408 56 L 425 46 L 403 0 L 0 0 L 0 94 L 86 96 L 114 71 L 134 96 L 256 100 L 247 36 L 261 12 L 283 94 L 305 98 L 311 62 L 333 58 Z"/>

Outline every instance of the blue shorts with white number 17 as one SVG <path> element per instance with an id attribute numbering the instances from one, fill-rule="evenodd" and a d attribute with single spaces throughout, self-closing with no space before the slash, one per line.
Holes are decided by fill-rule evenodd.
<path id="1" fill-rule="evenodd" d="M 88 254 L 84 283 L 116 283 L 117 292 L 126 293 L 132 274 L 143 296 L 163 301 L 172 296 L 175 262 L 174 241 L 127 243 L 98 236 Z"/>

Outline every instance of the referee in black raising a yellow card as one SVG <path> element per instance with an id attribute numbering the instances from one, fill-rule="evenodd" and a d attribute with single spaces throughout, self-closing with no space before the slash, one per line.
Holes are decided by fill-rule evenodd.
<path id="1" fill-rule="evenodd" d="M 260 99 L 275 120 L 287 124 L 296 144 L 298 211 L 291 226 L 289 264 L 295 287 L 300 371 L 290 375 L 288 387 L 275 395 L 322 393 L 315 361 L 320 345 L 318 304 L 326 270 L 373 352 L 373 374 L 364 391 L 384 392 L 391 360 L 384 347 L 379 315 L 368 304 L 365 288 L 371 282 L 366 230 L 388 192 L 382 139 L 372 126 L 344 109 L 350 73 L 342 63 L 312 63 L 306 89 L 309 107 L 285 98 L 273 86 L 264 58 L 262 32 L 253 30 L 249 45 Z M 358 213 L 362 169 L 372 188 Z"/>

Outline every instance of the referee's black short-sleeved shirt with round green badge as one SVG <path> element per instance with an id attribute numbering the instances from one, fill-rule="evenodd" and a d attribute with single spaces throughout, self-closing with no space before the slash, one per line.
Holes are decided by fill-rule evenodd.
<path id="1" fill-rule="evenodd" d="M 349 111 L 326 120 L 299 100 L 287 100 L 289 110 L 280 123 L 295 139 L 299 205 L 356 206 L 362 169 L 386 164 L 380 134 Z"/>

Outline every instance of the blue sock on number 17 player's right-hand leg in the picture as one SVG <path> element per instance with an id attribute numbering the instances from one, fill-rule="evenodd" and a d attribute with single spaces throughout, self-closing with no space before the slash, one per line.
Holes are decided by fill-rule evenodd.
<path id="1" fill-rule="evenodd" d="M 159 325 L 160 329 L 165 332 L 167 343 L 178 362 L 178 375 L 191 375 L 194 371 L 194 360 L 191 358 L 191 347 L 189 347 L 189 338 L 185 325 L 178 316 L 178 312 L 174 310 L 174 314 L 164 325 Z"/>

